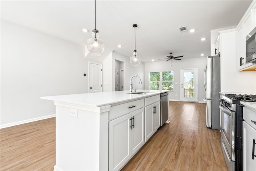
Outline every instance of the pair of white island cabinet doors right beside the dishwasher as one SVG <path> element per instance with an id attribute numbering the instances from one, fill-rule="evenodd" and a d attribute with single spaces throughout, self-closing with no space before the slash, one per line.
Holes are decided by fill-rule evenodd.
<path id="1" fill-rule="evenodd" d="M 145 141 L 160 127 L 160 101 L 145 107 Z"/>

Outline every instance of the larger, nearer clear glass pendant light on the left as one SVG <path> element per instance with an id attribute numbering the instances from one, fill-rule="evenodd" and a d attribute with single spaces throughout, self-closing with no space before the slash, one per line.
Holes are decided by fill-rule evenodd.
<path id="1" fill-rule="evenodd" d="M 104 42 L 99 38 L 99 30 L 96 30 L 96 0 L 95 0 L 95 29 L 92 30 L 92 38 L 87 40 L 87 48 L 91 55 L 100 56 L 105 48 Z"/>

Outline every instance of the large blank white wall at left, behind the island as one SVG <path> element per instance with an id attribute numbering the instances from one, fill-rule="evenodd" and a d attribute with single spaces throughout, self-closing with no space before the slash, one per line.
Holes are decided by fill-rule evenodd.
<path id="1" fill-rule="evenodd" d="M 0 83 L 1 127 L 54 116 L 41 96 L 88 92 L 84 46 L 1 20 Z"/>

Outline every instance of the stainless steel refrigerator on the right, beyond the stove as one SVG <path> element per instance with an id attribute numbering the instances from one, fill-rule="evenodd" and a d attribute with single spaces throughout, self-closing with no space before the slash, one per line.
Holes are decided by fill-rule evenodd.
<path id="1" fill-rule="evenodd" d="M 220 130 L 220 55 L 208 56 L 204 70 L 206 127 Z"/>

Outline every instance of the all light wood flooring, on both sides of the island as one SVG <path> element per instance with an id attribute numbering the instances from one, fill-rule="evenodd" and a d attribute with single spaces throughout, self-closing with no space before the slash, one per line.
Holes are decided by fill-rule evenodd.
<path id="1" fill-rule="evenodd" d="M 227 171 L 220 132 L 205 126 L 205 104 L 170 101 L 163 125 L 123 171 Z M 1 171 L 52 171 L 55 118 L 0 130 Z"/>

